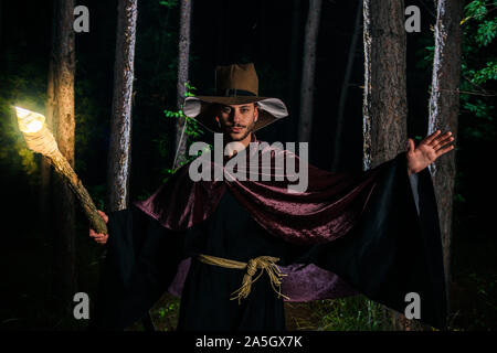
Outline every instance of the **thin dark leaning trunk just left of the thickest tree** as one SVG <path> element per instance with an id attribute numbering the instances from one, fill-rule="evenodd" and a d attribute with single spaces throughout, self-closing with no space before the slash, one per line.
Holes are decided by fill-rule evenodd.
<path id="1" fill-rule="evenodd" d="M 350 47 L 349 47 L 349 57 L 347 60 L 347 67 L 346 67 L 346 72 L 343 75 L 343 82 L 341 84 L 341 89 L 340 89 L 340 99 L 338 101 L 337 127 L 336 127 L 336 131 L 335 131 L 334 159 L 332 159 L 332 167 L 331 167 L 331 169 L 334 171 L 338 170 L 338 168 L 340 165 L 341 133 L 342 133 L 342 129 L 343 129 L 345 107 L 347 104 L 347 97 L 348 97 L 348 93 L 349 93 L 349 84 L 350 84 L 350 77 L 352 75 L 353 62 L 356 58 L 357 42 L 359 40 L 359 33 L 361 31 L 361 18 L 362 18 L 362 0 L 359 0 L 357 12 L 356 12 L 356 21 L 355 21 L 355 25 L 353 25 L 352 40 L 350 42 Z"/>

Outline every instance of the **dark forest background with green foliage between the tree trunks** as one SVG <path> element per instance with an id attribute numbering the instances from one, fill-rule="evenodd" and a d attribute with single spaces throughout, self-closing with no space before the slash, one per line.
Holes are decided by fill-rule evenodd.
<path id="1" fill-rule="evenodd" d="M 348 55 L 358 3 L 328 0 L 321 6 L 309 156 L 313 164 L 325 170 L 362 169 L 362 35 L 355 54 Z M 427 131 L 436 9 L 429 0 L 404 3 L 421 10 L 421 31 L 406 34 L 408 131 L 420 140 Z M 89 32 L 77 33 L 75 39 L 75 170 L 97 206 L 105 210 L 117 1 L 81 0 L 77 4 L 89 9 L 91 22 Z M 289 117 L 261 130 L 257 138 L 296 141 L 307 8 L 307 1 L 297 0 L 194 1 L 191 92 L 212 92 L 215 65 L 254 62 L 262 95 L 282 98 L 289 107 Z M 179 1 L 175 0 L 138 2 L 130 200 L 149 196 L 173 168 L 179 11 Z M 450 328 L 454 330 L 497 328 L 497 240 L 493 231 L 497 194 L 491 172 L 497 142 L 496 12 L 495 1 L 465 1 L 461 23 L 461 108 L 451 255 Z M 15 103 L 44 113 L 52 22 L 52 1 L 0 1 L 0 330 L 84 330 L 86 325 L 84 320 L 75 321 L 57 310 L 52 272 L 54 238 L 50 224 L 46 226 L 36 212 L 41 157 L 27 149 L 11 108 Z M 336 117 L 349 61 L 352 74 L 336 151 Z M 207 135 L 190 136 L 209 139 Z M 334 163 L 337 154 L 339 162 Z M 81 211 L 76 215 L 77 290 L 92 297 L 104 250 L 87 236 Z M 169 296 L 157 303 L 152 317 L 158 329 L 173 330 L 178 304 Z M 381 309 L 364 298 L 288 309 L 292 329 L 385 328 Z M 138 324 L 134 329 L 141 328 Z"/>

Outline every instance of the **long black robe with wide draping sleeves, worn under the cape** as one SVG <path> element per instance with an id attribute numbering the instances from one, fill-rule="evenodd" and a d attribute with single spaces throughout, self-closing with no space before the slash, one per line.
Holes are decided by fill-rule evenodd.
<path id="1" fill-rule="evenodd" d="M 195 260 L 197 254 L 207 254 L 239 261 L 271 255 L 283 266 L 314 264 L 400 312 L 409 304 L 405 295 L 416 292 L 421 321 L 443 329 L 446 302 L 436 202 L 427 169 L 413 180 L 400 154 L 385 168 L 356 226 L 341 238 L 317 245 L 292 244 L 269 234 L 229 191 L 204 222 L 184 231 L 168 229 L 135 206 L 110 213 L 92 325 L 121 330 L 139 320 L 168 290 L 180 261 L 192 257 L 179 330 L 285 329 L 283 300 L 265 274 L 239 304 L 230 295 L 240 288 L 243 270 Z"/>

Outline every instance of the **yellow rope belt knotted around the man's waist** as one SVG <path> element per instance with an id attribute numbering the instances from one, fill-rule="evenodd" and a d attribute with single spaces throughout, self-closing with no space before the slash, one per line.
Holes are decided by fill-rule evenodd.
<path id="1" fill-rule="evenodd" d="M 279 268 L 275 265 L 275 263 L 279 260 L 279 258 L 277 257 L 260 256 L 250 259 L 248 263 L 240 263 L 235 260 L 202 254 L 200 254 L 198 258 L 201 263 L 208 265 L 214 265 L 224 268 L 237 268 L 237 269 L 246 268 L 246 272 L 243 276 L 242 287 L 232 292 L 234 297 L 230 298 L 230 300 L 239 299 L 240 303 L 242 298 L 248 297 L 252 284 L 255 282 L 262 276 L 264 270 L 269 276 L 271 286 L 273 287 L 273 290 L 278 295 L 278 298 L 284 297 L 285 299 L 289 299 L 288 297 L 282 293 L 282 277 L 286 275 L 282 274 Z M 257 275 L 257 277 L 253 278 L 258 268 L 261 269 L 261 272 Z"/>

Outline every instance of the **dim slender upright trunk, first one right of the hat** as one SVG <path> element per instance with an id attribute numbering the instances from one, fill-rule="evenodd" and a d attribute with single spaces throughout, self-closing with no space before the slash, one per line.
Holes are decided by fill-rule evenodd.
<path id="1" fill-rule="evenodd" d="M 314 76 L 320 13 L 321 0 L 309 0 L 300 87 L 300 122 L 298 127 L 298 141 L 300 142 L 309 142 L 313 127 Z"/>

